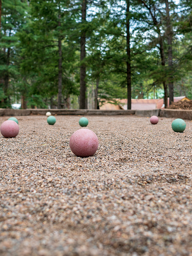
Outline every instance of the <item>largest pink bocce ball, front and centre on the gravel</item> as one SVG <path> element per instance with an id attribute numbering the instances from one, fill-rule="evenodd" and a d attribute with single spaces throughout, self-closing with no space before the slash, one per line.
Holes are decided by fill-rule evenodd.
<path id="1" fill-rule="evenodd" d="M 79 129 L 69 140 L 71 151 L 76 156 L 88 157 L 95 154 L 99 146 L 97 135 L 89 129 Z"/>

